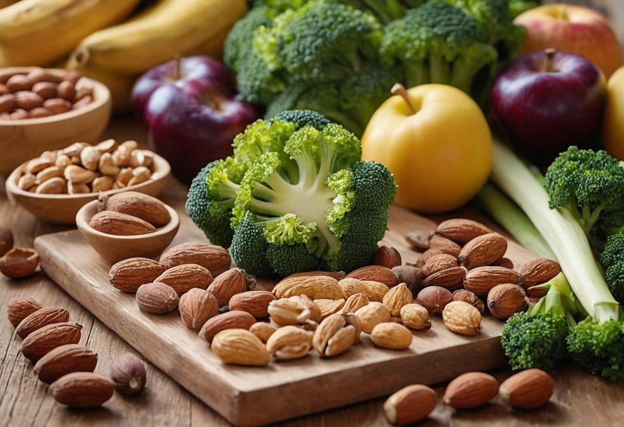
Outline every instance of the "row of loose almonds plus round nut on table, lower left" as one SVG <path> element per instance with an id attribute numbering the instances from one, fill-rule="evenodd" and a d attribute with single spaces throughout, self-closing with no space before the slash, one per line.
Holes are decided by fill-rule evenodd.
<path id="1" fill-rule="evenodd" d="M 42 307 L 33 298 L 13 298 L 7 307 L 11 325 L 22 338 L 20 351 L 40 381 L 50 384 L 56 401 L 71 408 L 93 408 L 113 395 L 132 394 L 145 386 L 145 366 L 130 354 L 119 356 L 110 379 L 94 373 L 97 353 L 79 345 L 81 325 L 60 307 Z"/>

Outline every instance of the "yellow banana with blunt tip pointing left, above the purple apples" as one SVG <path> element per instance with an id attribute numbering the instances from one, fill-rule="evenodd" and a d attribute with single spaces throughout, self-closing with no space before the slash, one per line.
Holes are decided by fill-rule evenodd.
<path id="1" fill-rule="evenodd" d="M 218 57 L 225 34 L 245 12 L 245 0 L 160 0 L 129 21 L 86 37 L 72 52 L 70 66 L 132 76 L 175 54 Z"/>

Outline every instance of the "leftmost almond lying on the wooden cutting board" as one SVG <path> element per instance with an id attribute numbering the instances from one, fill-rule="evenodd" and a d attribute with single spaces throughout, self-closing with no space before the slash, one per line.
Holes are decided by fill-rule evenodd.
<path id="1" fill-rule="evenodd" d="M 137 292 L 140 285 L 152 283 L 162 274 L 160 264 L 150 258 L 129 258 L 110 267 L 109 282 L 124 292 Z"/>

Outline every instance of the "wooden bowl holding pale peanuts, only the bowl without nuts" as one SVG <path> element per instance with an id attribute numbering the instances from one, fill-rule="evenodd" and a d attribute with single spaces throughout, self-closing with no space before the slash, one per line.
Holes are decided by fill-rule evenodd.
<path id="1" fill-rule="evenodd" d="M 39 153 L 41 154 L 41 153 Z M 38 155 L 38 154 L 37 154 Z M 36 156 L 35 156 L 36 157 Z M 36 194 L 24 191 L 17 187 L 17 182 L 21 176 L 22 167 L 19 165 L 6 180 L 6 194 L 10 199 L 21 204 L 28 212 L 45 222 L 56 224 L 76 223 L 76 214 L 85 204 L 97 199 L 99 193 L 87 194 Z M 123 191 L 138 191 L 156 197 L 167 182 L 167 177 L 171 174 L 171 166 L 167 160 L 154 153 L 154 172 L 149 180 L 124 187 L 123 189 L 109 190 L 104 194 L 115 194 Z"/>

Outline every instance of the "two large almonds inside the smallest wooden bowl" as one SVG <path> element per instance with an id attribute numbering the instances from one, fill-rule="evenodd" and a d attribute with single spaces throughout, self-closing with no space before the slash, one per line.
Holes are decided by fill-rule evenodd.
<path id="1" fill-rule="evenodd" d="M 89 220 L 89 227 L 119 236 L 153 233 L 171 221 L 163 202 L 135 191 L 100 194 L 98 210 Z"/>

